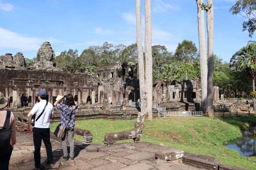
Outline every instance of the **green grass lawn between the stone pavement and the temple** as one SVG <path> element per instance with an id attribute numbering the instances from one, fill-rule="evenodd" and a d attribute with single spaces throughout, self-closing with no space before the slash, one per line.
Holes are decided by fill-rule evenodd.
<path id="1" fill-rule="evenodd" d="M 132 129 L 136 120 L 77 120 L 76 127 L 93 134 L 93 143 L 103 145 L 104 134 Z M 254 115 L 217 118 L 154 118 L 145 121 L 141 141 L 180 148 L 184 152 L 215 157 L 223 164 L 256 169 L 255 157 L 243 157 L 223 146 L 225 141 L 241 137 L 240 129 L 255 125 Z M 54 131 L 57 124 L 51 125 Z M 77 140 L 81 137 L 75 136 Z M 132 139 L 125 142 L 133 142 Z M 124 142 L 124 141 L 118 141 Z"/>

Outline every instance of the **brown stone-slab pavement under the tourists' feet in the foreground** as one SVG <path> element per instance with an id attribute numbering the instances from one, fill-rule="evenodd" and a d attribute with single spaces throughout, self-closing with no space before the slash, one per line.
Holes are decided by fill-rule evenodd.
<path id="1" fill-rule="evenodd" d="M 54 161 L 56 164 L 49 167 L 45 164 L 46 152 L 42 144 L 42 165 L 45 169 L 191 169 L 198 168 L 182 164 L 179 159 L 182 150 L 167 146 L 152 145 L 150 143 L 117 143 L 111 146 L 79 145 L 76 144 L 76 157 L 74 160 L 63 160 L 61 143 L 51 139 Z M 34 169 L 32 134 L 17 134 L 15 145 L 10 160 L 10 170 Z M 172 160 L 172 161 L 171 161 Z"/>

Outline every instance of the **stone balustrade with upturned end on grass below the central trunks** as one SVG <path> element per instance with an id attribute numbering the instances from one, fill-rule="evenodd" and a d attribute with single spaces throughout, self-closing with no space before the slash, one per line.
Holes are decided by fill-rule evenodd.
<path id="1" fill-rule="evenodd" d="M 138 118 L 134 124 L 134 128 L 131 131 L 107 133 L 104 136 L 103 143 L 105 145 L 111 145 L 116 141 L 124 140 L 124 139 L 133 139 L 134 142 L 140 141 L 143 127 L 144 127 L 144 117 L 138 114 Z"/>

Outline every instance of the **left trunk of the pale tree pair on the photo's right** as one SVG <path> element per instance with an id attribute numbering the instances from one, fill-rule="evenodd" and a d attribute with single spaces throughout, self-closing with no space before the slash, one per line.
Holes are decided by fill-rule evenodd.
<path id="1" fill-rule="evenodd" d="M 198 39 L 200 51 L 200 74 L 202 90 L 202 110 L 206 111 L 207 100 L 207 55 L 205 40 L 204 10 L 202 9 L 202 0 L 196 0 L 197 18 L 198 18 Z"/>

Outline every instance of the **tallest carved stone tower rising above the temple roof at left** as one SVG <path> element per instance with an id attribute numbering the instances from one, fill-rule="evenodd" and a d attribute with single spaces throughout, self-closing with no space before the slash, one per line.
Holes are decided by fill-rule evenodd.
<path id="1" fill-rule="evenodd" d="M 56 70 L 54 59 L 54 50 L 52 50 L 51 44 L 48 41 L 45 41 L 37 52 L 36 64 L 33 68 Z"/>

